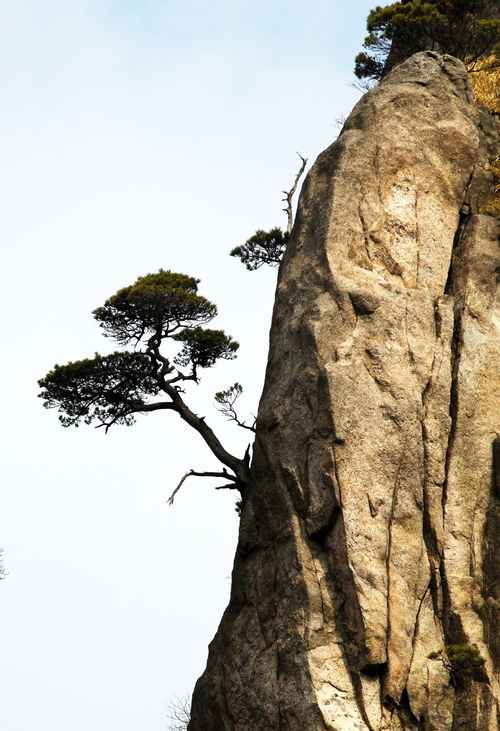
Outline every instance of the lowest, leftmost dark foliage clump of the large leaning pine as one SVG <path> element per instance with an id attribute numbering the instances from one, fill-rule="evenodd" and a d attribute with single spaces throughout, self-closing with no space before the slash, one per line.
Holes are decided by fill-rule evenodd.
<path id="1" fill-rule="evenodd" d="M 147 396 L 158 393 L 159 385 L 151 359 L 143 353 L 111 353 L 60 366 L 38 381 L 40 397 L 48 409 L 61 411 L 63 426 L 81 421 L 104 425 L 134 422 Z"/>

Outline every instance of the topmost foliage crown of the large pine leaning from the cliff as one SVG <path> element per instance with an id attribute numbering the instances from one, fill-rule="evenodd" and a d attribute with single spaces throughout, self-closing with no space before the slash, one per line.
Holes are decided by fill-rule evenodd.
<path id="1" fill-rule="evenodd" d="M 198 283 L 199 279 L 160 269 L 118 290 L 93 315 L 106 336 L 120 345 L 168 337 L 216 316 L 217 307 L 197 294 Z"/>

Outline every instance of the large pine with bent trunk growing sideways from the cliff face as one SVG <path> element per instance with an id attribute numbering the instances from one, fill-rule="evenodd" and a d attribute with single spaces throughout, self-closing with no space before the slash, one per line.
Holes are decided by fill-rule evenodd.
<path id="1" fill-rule="evenodd" d="M 182 387 L 190 381 L 197 384 L 200 369 L 235 358 L 239 347 L 222 330 L 203 327 L 216 316 L 217 307 L 198 294 L 198 283 L 160 269 L 120 289 L 93 315 L 106 337 L 132 350 L 55 365 L 39 380 L 40 396 L 46 408 L 60 411 L 66 427 L 96 423 L 107 431 L 114 424 L 133 424 L 137 414 L 174 411 L 223 465 L 216 472 L 191 470 L 181 483 L 189 475 L 220 477 L 226 481 L 221 487 L 241 490 L 248 481 L 248 450 L 242 458 L 230 454 L 183 398 Z M 174 345 L 180 350 L 172 356 Z"/>

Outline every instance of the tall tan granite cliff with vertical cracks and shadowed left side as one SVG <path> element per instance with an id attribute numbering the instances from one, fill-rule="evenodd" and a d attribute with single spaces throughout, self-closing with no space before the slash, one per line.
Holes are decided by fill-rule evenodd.
<path id="1" fill-rule="evenodd" d="M 424 52 L 311 169 L 191 731 L 497 728 L 496 140 Z M 485 664 L 428 657 L 453 644 Z"/>

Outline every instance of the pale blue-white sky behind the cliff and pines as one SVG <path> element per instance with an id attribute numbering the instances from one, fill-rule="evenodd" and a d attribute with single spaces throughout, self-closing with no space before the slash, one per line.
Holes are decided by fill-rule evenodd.
<path id="1" fill-rule="evenodd" d="M 2 731 L 165 731 L 230 591 L 235 495 L 169 412 L 63 429 L 54 363 L 109 352 L 92 310 L 159 268 L 201 280 L 241 344 L 186 400 L 256 412 L 276 270 L 228 252 L 286 226 L 281 191 L 334 141 L 373 5 L 359 0 L 0 0 Z"/>

